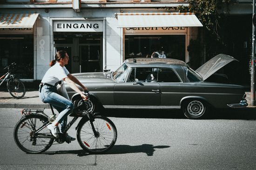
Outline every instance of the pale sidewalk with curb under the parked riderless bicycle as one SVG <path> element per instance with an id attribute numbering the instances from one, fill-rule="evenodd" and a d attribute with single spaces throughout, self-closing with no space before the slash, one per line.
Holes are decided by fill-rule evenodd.
<path id="1" fill-rule="evenodd" d="M 246 100 L 250 106 L 250 92 L 246 92 Z M 21 99 L 13 98 L 7 89 L 0 89 L 0 108 L 50 108 L 38 97 L 38 90 L 28 88 L 25 96 Z"/>

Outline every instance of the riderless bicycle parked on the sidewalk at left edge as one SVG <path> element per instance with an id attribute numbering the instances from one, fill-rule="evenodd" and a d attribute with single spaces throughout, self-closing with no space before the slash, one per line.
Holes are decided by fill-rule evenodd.
<path id="1" fill-rule="evenodd" d="M 15 78 L 15 76 L 11 74 L 11 70 L 14 68 L 15 65 L 16 65 L 16 63 L 12 63 L 12 64 L 8 65 L 6 68 L 4 68 L 4 69 L 8 69 L 8 71 L 6 74 L 4 74 L 3 76 L 0 77 L 0 80 L 4 77 L 2 82 L 0 82 L 0 86 L 3 84 L 3 82 L 7 78 L 9 78 L 9 80 L 7 81 L 8 92 L 13 97 L 20 99 L 25 95 L 26 89 L 25 89 L 23 82 L 21 82 L 20 79 Z"/>

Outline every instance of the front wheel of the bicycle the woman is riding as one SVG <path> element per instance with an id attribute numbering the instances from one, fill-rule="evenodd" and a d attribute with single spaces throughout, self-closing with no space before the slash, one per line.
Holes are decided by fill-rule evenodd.
<path id="1" fill-rule="evenodd" d="M 115 145 L 117 138 L 115 125 L 104 116 L 95 116 L 93 125 L 97 136 L 94 135 L 90 120 L 81 123 L 81 126 L 77 129 L 78 143 L 89 153 L 104 153 Z"/>

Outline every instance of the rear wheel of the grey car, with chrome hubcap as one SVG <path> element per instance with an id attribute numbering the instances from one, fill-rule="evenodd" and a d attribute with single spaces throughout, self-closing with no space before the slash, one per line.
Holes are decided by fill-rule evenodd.
<path id="1" fill-rule="evenodd" d="M 201 119 L 207 112 L 207 104 L 200 100 L 189 100 L 182 104 L 182 111 L 189 119 Z"/>

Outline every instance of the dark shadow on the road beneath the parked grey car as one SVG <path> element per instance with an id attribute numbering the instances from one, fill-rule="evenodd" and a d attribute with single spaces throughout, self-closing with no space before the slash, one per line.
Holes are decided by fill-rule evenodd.
<path id="1" fill-rule="evenodd" d="M 105 115 L 118 118 L 188 119 L 181 109 L 108 109 Z M 210 108 L 209 114 L 203 119 L 256 120 L 256 108 Z"/>

